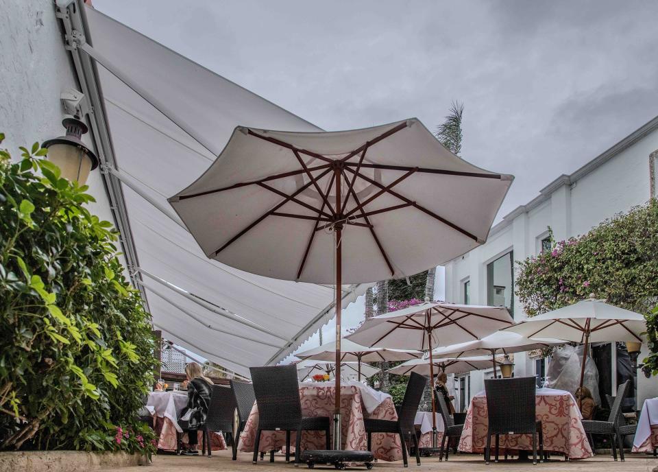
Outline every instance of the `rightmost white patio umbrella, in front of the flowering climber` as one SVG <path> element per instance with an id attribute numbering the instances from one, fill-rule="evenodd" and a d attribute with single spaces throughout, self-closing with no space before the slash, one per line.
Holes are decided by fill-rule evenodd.
<path id="1" fill-rule="evenodd" d="M 642 333 L 646 331 L 646 320 L 635 311 L 609 305 L 591 294 L 587 300 L 533 316 L 505 330 L 526 338 L 558 338 L 584 343 L 581 381 L 578 384 L 582 388 L 589 343 L 644 342 Z"/>

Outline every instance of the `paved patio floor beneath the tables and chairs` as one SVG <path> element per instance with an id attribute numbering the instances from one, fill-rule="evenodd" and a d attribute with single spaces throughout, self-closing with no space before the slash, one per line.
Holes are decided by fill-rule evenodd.
<path id="1" fill-rule="evenodd" d="M 487 472 L 652 472 L 654 467 L 658 467 L 658 460 L 651 456 L 639 454 L 628 454 L 626 462 L 614 462 L 608 456 L 596 456 L 587 460 L 574 460 L 564 462 L 563 460 L 551 460 L 548 463 L 537 464 L 533 466 L 532 462 L 515 462 L 500 461 L 498 464 L 493 462 L 488 466 L 483 462 L 483 456 L 475 454 L 458 454 L 450 456 L 448 462 L 439 462 L 438 458 L 422 458 L 422 465 L 417 467 L 414 462 L 410 462 L 409 469 L 402 467 L 402 462 L 377 462 L 373 469 L 385 472 L 402 472 L 402 471 L 487 471 Z M 275 462 L 271 464 L 266 456 L 264 461 L 258 462 L 258 465 L 252 465 L 251 454 L 239 453 L 238 460 L 233 462 L 228 451 L 219 451 L 212 453 L 211 458 L 191 457 L 191 456 L 156 456 L 152 467 L 147 469 L 143 467 L 123 467 L 121 469 L 103 469 L 104 471 L 113 472 L 202 472 L 202 471 L 226 471 L 226 472 L 294 472 L 308 471 L 306 465 L 301 464 L 299 469 L 295 469 L 293 464 L 286 464 L 282 456 L 277 456 Z M 316 465 L 314 471 L 334 471 L 334 467 Z M 352 467 L 348 470 L 366 471 L 365 467 Z"/>

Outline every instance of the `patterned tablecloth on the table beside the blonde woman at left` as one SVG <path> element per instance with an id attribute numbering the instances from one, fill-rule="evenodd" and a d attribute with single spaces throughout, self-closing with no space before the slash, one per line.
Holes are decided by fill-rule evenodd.
<path id="1" fill-rule="evenodd" d="M 158 435 L 158 449 L 175 451 L 176 432 L 182 432 L 178 425 L 178 414 L 187 405 L 187 393 L 184 392 L 151 392 L 146 403 L 154 408 L 154 430 Z M 202 443 L 202 432 L 198 432 L 199 450 Z M 187 434 L 183 435 L 182 443 L 187 447 Z M 219 433 L 210 434 L 210 444 L 213 451 L 226 449 L 226 442 Z"/>

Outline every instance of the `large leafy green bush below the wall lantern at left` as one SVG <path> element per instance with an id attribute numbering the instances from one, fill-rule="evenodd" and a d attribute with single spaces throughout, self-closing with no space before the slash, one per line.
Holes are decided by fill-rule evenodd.
<path id="1" fill-rule="evenodd" d="M 0 150 L 0 447 L 153 451 L 136 412 L 154 340 L 117 235 L 45 149 L 21 151 Z"/>

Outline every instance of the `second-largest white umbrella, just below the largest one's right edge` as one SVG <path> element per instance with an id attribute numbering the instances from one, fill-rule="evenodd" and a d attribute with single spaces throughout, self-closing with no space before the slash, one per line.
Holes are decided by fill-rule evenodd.
<path id="1" fill-rule="evenodd" d="M 509 325 L 513 325 L 513 320 L 506 307 L 425 301 L 368 318 L 348 339 L 365 346 L 429 351 L 430 376 L 433 379 L 432 349 L 455 342 L 478 340 Z M 432 395 L 432 414 L 436 411 Z M 436 431 L 435 416 L 432 416 L 432 423 Z M 436 447 L 436 434 L 432 442 Z"/>

